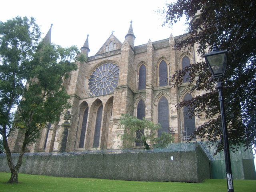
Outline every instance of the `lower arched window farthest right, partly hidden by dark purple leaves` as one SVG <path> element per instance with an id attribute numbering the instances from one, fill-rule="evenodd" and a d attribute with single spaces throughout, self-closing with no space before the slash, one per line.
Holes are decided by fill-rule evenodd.
<path id="1" fill-rule="evenodd" d="M 184 96 L 184 100 L 190 100 L 192 99 L 192 96 L 187 93 Z M 190 138 L 190 135 L 196 130 L 196 122 L 195 122 L 195 116 L 193 115 L 191 118 L 189 118 L 190 114 L 188 112 L 188 107 L 183 108 L 183 115 L 184 115 L 184 140 L 188 140 Z"/>

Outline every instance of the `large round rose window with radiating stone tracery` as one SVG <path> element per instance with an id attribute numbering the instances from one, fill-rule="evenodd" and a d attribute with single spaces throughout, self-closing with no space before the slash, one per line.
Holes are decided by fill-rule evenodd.
<path id="1" fill-rule="evenodd" d="M 114 63 L 104 63 L 92 72 L 88 87 L 93 96 L 106 95 L 114 91 L 118 85 L 119 66 Z"/>

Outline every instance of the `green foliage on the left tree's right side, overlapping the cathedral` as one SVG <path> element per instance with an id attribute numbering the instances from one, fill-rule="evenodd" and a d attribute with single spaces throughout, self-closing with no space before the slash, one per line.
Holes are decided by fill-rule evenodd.
<path id="1" fill-rule="evenodd" d="M 76 64 L 71 61 L 77 52 L 74 46 L 62 48 L 44 44 L 34 54 L 28 86 L 18 106 L 19 121 L 31 132 L 31 141 L 42 126 L 58 121 L 64 109 L 70 107 L 62 84 L 69 72 L 76 70 Z"/>

